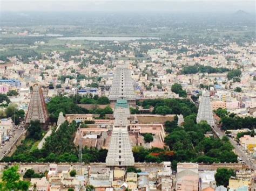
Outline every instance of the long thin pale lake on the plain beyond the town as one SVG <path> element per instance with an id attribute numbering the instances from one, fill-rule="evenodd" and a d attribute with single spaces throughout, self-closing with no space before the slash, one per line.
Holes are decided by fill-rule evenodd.
<path id="1" fill-rule="evenodd" d="M 129 41 L 140 39 L 159 39 L 156 37 L 60 37 L 59 40 L 108 40 L 108 41 Z"/>

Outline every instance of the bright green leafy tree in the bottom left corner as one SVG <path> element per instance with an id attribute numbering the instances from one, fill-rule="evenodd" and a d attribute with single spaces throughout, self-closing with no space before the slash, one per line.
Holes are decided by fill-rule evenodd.
<path id="1" fill-rule="evenodd" d="M 28 190 L 30 183 L 19 180 L 18 166 L 12 166 L 3 171 L 1 190 Z"/>

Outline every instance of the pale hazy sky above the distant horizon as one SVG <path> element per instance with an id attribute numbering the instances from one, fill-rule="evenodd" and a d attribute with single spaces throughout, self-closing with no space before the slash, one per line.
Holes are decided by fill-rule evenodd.
<path id="1" fill-rule="evenodd" d="M 255 13 L 248 0 L 0 0 L 0 11 L 235 12 Z"/>

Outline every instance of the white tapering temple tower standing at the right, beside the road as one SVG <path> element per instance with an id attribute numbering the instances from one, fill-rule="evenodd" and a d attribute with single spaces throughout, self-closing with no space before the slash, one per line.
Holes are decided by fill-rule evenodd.
<path id="1" fill-rule="evenodd" d="M 210 101 L 210 93 L 205 90 L 201 96 L 201 102 L 197 113 L 197 123 L 206 121 L 209 125 L 214 126 L 212 106 Z"/>

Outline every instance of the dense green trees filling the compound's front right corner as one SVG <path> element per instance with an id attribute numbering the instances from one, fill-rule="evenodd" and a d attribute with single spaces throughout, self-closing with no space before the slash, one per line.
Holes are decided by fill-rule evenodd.
<path id="1" fill-rule="evenodd" d="M 237 155 L 233 153 L 233 147 L 226 137 L 222 140 L 205 137 L 211 127 L 206 122 L 196 124 L 196 115 L 189 115 L 184 121 L 184 128 L 177 126 L 177 120 L 167 121 L 164 125 L 165 131 L 169 133 L 165 137 L 165 144 L 174 152 L 171 161 L 237 162 Z"/>

